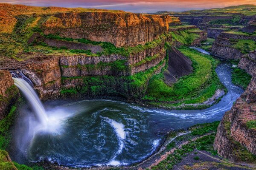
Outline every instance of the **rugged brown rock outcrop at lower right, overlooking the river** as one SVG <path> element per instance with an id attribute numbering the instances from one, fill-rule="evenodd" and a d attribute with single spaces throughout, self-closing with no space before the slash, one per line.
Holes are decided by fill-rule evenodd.
<path id="1" fill-rule="evenodd" d="M 237 99 L 231 111 L 227 112 L 218 126 L 214 148 L 218 154 L 231 161 L 255 161 L 256 128 L 248 123 L 256 120 L 256 77 L 247 90 Z M 244 147 L 246 149 L 244 149 Z"/>

